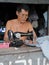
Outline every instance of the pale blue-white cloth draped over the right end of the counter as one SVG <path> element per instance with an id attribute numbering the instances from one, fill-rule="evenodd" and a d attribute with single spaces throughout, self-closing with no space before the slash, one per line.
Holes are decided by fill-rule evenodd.
<path id="1" fill-rule="evenodd" d="M 37 38 L 44 56 L 49 60 L 49 36 Z"/>

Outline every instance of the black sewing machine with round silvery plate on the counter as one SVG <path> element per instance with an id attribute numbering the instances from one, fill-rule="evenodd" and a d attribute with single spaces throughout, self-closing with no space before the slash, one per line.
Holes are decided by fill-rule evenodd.
<path id="1" fill-rule="evenodd" d="M 33 40 L 33 33 L 32 32 L 28 32 L 28 33 L 24 33 L 24 32 L 14 32 L 9 30 L 8 31 L 8 38 L 10 41 L 12 41 L 10 43 L 10 47 L 13 46 L 13 47 L 20 47 L 24 44 L 24 41 L 23 40 L 20 40 L 20 37 L 22 36 L 27 36 L 27 37 L 30 37 L 31 40 Z"/>

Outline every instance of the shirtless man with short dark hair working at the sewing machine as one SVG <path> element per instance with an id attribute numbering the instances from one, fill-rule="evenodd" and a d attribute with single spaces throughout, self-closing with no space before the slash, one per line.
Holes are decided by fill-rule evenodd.
<path id="1" fill-rule="evenodd" d="M 22 5 L 17 8 L 16 15 L 17 19 L 9 20 L 6 24 L 6 31 L 4 35 L 4 40 L 8 40 L 8 30 L 12 30 L 13 32 L 33 32 L 34 41 L 36 41 L 36 34 L 32 28 L 30 22 L 27 21 L 29 14 L 29 7 L 27 5 Z M 21 40 L 26 40 L 26 36 L 21 37 Z"/>

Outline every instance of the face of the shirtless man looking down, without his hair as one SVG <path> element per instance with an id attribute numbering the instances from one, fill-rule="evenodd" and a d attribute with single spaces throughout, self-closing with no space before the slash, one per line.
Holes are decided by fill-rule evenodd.
<path id="1" fill-rule="evenodd" d="M 26 22 L 28 18 L 28 11 L 21 9 L 21 12 L 17 12 L 17 16 L 20 22 Z"/>

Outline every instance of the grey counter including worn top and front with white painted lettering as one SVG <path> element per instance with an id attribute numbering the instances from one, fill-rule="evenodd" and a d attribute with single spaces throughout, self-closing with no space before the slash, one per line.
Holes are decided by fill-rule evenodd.
<path id="1" fill-rule="evenodd" d="M 40 48 L 10 47 L 0 49 L 0 65 L 49 65 Z"/>

